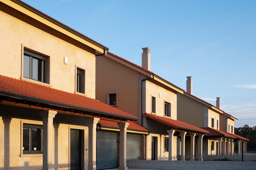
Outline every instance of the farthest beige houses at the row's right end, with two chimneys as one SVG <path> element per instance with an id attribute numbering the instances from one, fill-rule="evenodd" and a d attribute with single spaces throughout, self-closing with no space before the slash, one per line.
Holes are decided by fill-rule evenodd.
<path id="1" fill-rule="evenodd" d="M 248 139 L 234 134 L 234 121 L 237 119 L 220 109 L 220 97 L 213 106 L 192 92 L 192 77 L 189 76 L 186 92 L 177 94 L 177 119 L 209 131 L 203 139 L 203 155 L 233 155 L 235 142 L 238 142 L 239 153 L 242 147 L 246 152 Z"/>

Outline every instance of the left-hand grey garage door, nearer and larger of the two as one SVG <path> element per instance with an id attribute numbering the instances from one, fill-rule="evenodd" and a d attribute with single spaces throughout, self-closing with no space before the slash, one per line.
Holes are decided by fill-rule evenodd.
<path id="1" fill-rule="evenodd" d="M 97 170 L 117 168 L 117 132 L 97 131 Z"/>

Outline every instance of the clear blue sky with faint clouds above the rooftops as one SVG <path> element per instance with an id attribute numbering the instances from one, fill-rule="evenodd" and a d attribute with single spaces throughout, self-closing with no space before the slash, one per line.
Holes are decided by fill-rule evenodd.
<path id="1" fill-rule="evenodd" d="M 255 0 L 23 0 L 141 66 L 256 126 Z"/>

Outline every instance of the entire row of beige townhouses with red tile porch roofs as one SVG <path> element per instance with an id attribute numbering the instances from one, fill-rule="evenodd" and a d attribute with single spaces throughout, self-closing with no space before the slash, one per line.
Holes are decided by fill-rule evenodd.
<path id="1" fill-rule="evenodd" d="M 248 139 L 237 119 L 20 0 L 0 0 L 0 169 L 127 170 L 203 160 Z"/>

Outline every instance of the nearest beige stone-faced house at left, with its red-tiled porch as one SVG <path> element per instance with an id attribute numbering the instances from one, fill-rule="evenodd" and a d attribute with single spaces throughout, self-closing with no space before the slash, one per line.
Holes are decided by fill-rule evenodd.
<path id="1" fill-rule="evenodd" d="M 0 19 L 0 169 L 96 170 L 109 124 L 115 166 L 127 169 L 127 132 L 148 130 L 95 99 L 96 57 L 108 48 L 20 0 L 0 0 Z"/>

